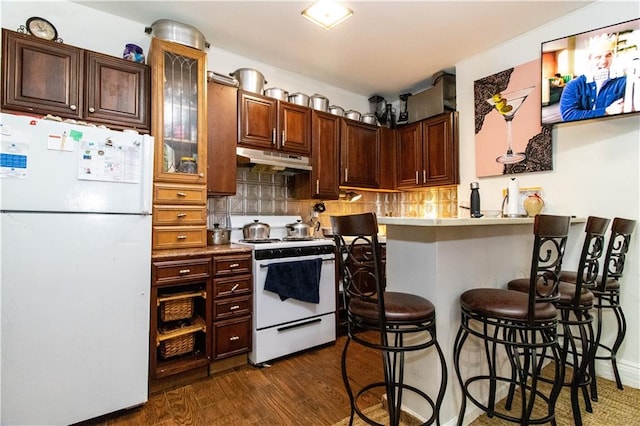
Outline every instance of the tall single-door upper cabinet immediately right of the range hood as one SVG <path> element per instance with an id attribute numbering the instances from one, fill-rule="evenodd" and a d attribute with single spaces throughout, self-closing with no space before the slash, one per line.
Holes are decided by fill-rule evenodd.
<path id="1" fill-rule="evenodd" d="M 340 126 L 337 115 L 312 111 L 310 173 L 295 176 L 295 198 L 337 200 L 340 193 Z"/>

